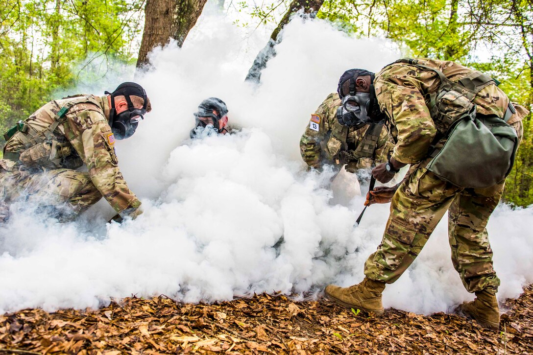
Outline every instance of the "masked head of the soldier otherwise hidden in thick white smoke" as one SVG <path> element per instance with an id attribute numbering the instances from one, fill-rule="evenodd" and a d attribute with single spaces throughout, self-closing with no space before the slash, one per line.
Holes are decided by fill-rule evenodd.
<path id="1" fill-rule="evenodd" d="M 229 132 L 228 107 L 219 98 L 208 98 L 202 101 L 194 115 L 196 126 L 190 132 L 191 138 Z"/>

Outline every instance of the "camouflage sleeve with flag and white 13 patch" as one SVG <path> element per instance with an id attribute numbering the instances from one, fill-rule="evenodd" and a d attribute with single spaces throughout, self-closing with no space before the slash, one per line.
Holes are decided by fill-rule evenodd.
<path id="1" fill-rule="evenodd" d="M 337 93 L 331 93 L 311 115 L 308 126 L 300 139 L 300 154 L 309 167 L 319 168 L 324 160 L 320 143 L 327 140 L 330 127 L 333 125 L 332 119 L 336 119 L 338 106 L 340 106 L 340 99 Z"/>

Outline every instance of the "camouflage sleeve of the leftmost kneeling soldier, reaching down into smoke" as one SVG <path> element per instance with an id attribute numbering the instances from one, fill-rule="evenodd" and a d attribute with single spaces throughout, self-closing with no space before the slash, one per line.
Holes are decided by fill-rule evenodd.
<path id="1" fill-rule="evenodd" d="M 64 134 L 87 165 L 91 181 L 117 213 L 138 208 L 141 201 L 128 188 L 118 168 L 115 138 L 107 119 L 94 104 L 73 107 Z"/>

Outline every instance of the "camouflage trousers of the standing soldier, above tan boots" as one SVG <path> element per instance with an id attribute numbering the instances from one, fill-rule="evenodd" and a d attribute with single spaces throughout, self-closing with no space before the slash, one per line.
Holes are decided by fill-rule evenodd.
<path id="1" fill-rule="evenodd" d="M 425 166 L 425 165 L 423 165 Z M 502 196 L 504 183 L 486 189 L 463 189 L 418 167 L 391 201 L 391 214 L 377 251 L 365 263 L 365 275 L 391 284 L 429 239 L 448 211 L 451 260 L 467 291 L 497 291 L 487 222 Z"/>

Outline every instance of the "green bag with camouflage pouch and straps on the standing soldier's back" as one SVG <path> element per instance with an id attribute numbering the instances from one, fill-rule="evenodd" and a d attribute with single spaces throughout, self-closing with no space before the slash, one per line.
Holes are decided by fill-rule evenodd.
<path id="1" fill-rule="evenodd" d="M 399 59 L 439 75 L 439 90 L 430 95 L 430 112 L 435 126 L 446 138 L 436 148 L 426 168 L 441 180 L 462 188 L 488 188 L 503 182 L 511 172 L 518 148 L 518 135 L 507 121 L 515 113 L 510 103 L 503 118 L 479 115 L 475 95 L 485 86 L 499 82 L 479 71 L 451 82 L 442 71 L 417 59 Z"/>

